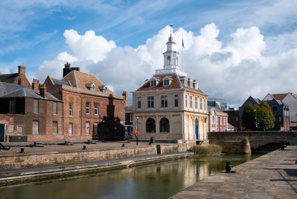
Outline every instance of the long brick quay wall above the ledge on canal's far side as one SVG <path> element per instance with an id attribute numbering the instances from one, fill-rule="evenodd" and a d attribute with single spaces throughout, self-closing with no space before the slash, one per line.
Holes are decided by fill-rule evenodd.
<path id="1" fill-rule="evenodd" d="M 161 153 L 186 151 L 182 144 L 162 144 Z M 1 154 L 0 169 L 62 165 L 157 154 L 157 145 L 108 149 Z"/>

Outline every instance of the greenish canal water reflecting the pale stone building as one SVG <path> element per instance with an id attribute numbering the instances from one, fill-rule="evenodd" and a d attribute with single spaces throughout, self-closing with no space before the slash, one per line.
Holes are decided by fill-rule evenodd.
<path id="1" fill-rule="evenodd" d="M 260 155 L 194 157 L 0 188 L 2 199 L 165 199 L 201 179 Z"/>

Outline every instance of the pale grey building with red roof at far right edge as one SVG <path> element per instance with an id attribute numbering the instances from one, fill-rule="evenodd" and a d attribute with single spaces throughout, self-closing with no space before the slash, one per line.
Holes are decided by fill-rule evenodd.
<path id="1" fill-rule="evenodd" d="M 263 101 L 272 100 L 281 100 L 282 103 L 289 106 L 289 116 L 290 116 L 290 129 L 297 130 L 297 94 L 293 92 L 282 93 L 282 94 L 270 94 L 268 93 Z"/>

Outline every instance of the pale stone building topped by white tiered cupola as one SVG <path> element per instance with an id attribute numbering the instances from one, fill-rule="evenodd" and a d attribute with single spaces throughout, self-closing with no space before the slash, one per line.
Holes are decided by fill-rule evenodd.
<path id="1" fill-rule="evenodd" d="M 207 139 L 207 94 L 198 81 L 180 70 L 180 53 L 170 34 L 163 69 L 155 70 L 133 94 L 133 129 L 140 139 L 181 139 L 196 144 Z M 135 137 L 134 137 L 135 138 Z"/>

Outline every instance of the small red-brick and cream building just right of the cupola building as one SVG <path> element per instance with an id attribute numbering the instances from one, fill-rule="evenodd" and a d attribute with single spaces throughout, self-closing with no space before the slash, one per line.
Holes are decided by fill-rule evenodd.
<path id="1" fill-rule="evenodd" d="M 212 131 L 227 131 L 228 129 L 228 114 L 224 113 L 219 107 L 207 106 L 209 118 L 209 132 Z"/>

